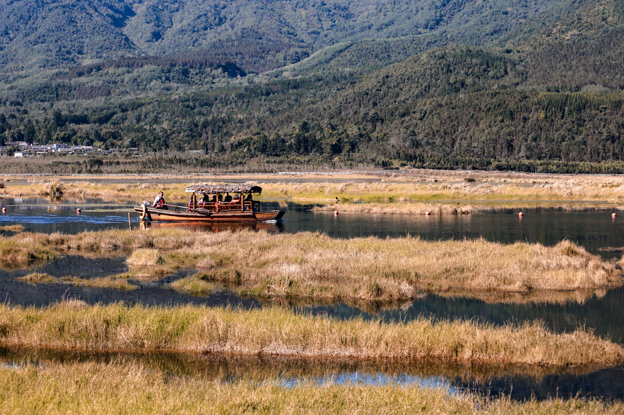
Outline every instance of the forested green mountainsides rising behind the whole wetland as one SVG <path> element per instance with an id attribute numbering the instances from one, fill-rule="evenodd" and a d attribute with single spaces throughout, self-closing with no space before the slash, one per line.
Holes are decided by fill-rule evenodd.
<path id="1" fill-rule="evenodd" d="M 0 144 L 150 156 L 47 161 L 58 172 L 111 163 L 624 172 L 624 0 L 85 2 L 89 10 L 0 1 L 24 6 L 0 27 L 11 34 L 0 40 Z M 94 32 L 75 36 L 82 54 L 62 25 L 58 38 L 43 23 L 16 29 L 20 16 L 47 22 L 61 9 L 92 19 L 80 30 Z M 96 9 L 114 21 L 110 33 Z M 149 28 L 160 34 L 148 39 Z M 35 37 L 45 48 L 26 51 Z M 66 52 L 49 53 L 53 42 Z M 172 155 L 188 149 L 209 154 Z"/>

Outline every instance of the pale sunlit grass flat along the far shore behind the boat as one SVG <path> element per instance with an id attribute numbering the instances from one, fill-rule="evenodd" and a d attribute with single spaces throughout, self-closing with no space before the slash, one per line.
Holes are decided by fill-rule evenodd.
<path id="1" fill-rule="evenodd" d="M 466 182 L 470 179 L 470 182 Z M 7 195 L 49 195 L 55 179 L 33 182 L 29 185 L 11 185 L 3 190 Z M 67 182 L 57 186 L 62 193 L 74 197 L 136 197 L 152 199 L 162 190 L 165 199 L 172 202 L 185 199 L 185 184 L 133 183 L 100 184 L 88 181 Z M 192 180 L 192 179 L 189 179 Z M 217 179 L 218 180 L 218 179 Z M 217 183 L 216 181 L 215 183 Z M 256 182 L 250 182 L 257 184 Z M 611 176 L 555 176 L 499 179 L 485 175 L 469 177 L 396 177 L 382 182 L 318 182 L 260 183 L 263 198 L 291 198 L 293 200 L 335 200 L 360 202 L 443 202 L 466 201 L 590 201 L 622 202 L 624 179 Z M 56 188 L 56 187 L 55 187 Z"/>

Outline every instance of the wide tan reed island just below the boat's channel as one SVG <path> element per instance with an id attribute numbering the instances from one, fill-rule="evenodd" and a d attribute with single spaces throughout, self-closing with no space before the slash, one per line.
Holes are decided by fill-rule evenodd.
<path id="1" fill-rule="evenodd" d="M 338 240 L 310 232 L 207 235 L 166 228 L 76 235 L 19 233 L 4 238 L 0 249 L 3 246 L 18 253 L 42 253 L 43 258 L 124 253 L 131 263 L 162 261 L 162 269 L 169 271 L 202 267 L 195 279 L 238 286 L 241 294 L 250 296 L 399 301 L 417 297 L 422 290 L 527 292 L 597 289 L 624 282 L 615 263 L 602 261 L 570 241 L 543 246 L 484 239 L 424 241 L 411 236 Z M 32 255 L 20 258 L 32 261 Z M 137 268 L 147 275 L 160 269 Z"/>

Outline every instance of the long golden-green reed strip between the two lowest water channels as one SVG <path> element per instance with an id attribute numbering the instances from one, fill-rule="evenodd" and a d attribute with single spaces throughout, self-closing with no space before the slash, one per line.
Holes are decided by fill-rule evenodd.
<path id="1" fill-rule="evenodd" d="M 0 305 L 0 344 L 79 349 L 163 349 L 239 355 L 435 358 L 529 365 L 614 365 L 615 343 L 542 324 L 494 327 L 417 319 L 384 324 L 296 315 L 280 309 L 124 304 L 36 309 Z"/>

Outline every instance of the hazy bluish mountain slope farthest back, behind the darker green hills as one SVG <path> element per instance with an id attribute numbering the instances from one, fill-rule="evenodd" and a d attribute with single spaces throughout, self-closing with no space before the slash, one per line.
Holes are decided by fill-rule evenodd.
<path id="1" fill-rule="evenodd" d="M 0 67 L 273 45 L 270 60 L 292 63 L 344 40 L 439 32 L 484 44 L 555 0 L 0 0 Z M 216 42 L 216 41 L 220 42 Z M 238 49 L 238 50 L 237 50 Z"/>

